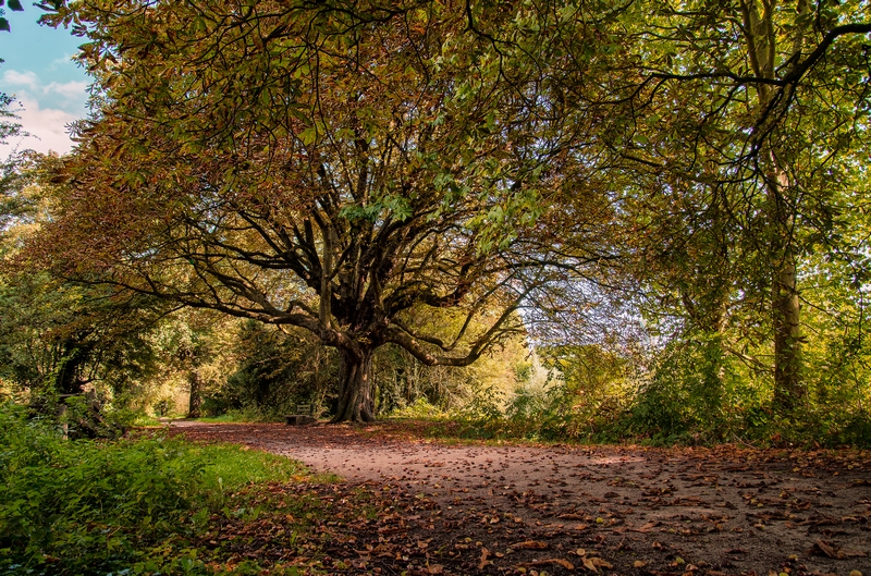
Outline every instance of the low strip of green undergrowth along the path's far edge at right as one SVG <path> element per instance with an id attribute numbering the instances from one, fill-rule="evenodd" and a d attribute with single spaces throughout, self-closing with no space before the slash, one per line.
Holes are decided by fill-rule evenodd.
<path id="1" fill-rule="evenodd" d="M 520 396 L 519 402 L 528 403 Z M 871 414 L 798 409 L 788 417 L 764 407 L 733 409 L 703 419 L 698 407 L 675 407 L 686 399 L 639 395 L 624 406 L 585 414 L 573 409 L 563 391 L 535 405 L 507 409 L 479 400 L 475 410 L 437 412 L 418 406 L 391 415 L 416 420 L 424 433 L 440 440 L 577 442 L 651 446 L 737 443 L 753 448 L 868 448 Z"/>

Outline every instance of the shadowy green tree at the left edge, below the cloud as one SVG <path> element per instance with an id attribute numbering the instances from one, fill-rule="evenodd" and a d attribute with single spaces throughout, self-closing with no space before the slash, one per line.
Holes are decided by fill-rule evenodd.
<path id="1" fill-rule="evenodd" d="M 17 266 L 27 238 L 50 218 L 51 186 L 40 184 L 38 167 L 56 161 L 14 155 L 0 180 L 0 380 L 32 399 L 86 387 L 122 393 L 128 379 L 152 371 L 148 336 L 168 307 Z"/>

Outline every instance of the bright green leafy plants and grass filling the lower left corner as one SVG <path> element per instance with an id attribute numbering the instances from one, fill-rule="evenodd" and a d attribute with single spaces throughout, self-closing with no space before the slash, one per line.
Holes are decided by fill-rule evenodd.
<path id="1" fill-rule="evenodd" d="M 63 440 L 11 405 L 0 407 L 0 574 L 131 567 L 194 535 L 194 511 L 220 510 L 224 491 L 302 469 L 234 446 Z"/>

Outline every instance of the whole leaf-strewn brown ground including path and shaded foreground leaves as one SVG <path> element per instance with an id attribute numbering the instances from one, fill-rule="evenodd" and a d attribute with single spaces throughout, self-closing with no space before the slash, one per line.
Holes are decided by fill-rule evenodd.
<path id="1" fill-rule="evenodd" d="M 871 576 L 868 451 L 456 444 L 419 429 L 171 425 L 344 479 L 270 487 L 327 513 L 308 543 L 277 538 L 275 518 L 236 527 L 240 557 L 346 574 Z"/>

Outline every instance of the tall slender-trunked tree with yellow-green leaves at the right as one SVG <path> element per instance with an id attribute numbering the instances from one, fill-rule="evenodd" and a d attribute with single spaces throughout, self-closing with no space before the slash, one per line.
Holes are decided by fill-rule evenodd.
<path id="1" fill-rule="evenodd" d="M 557 97 L 611 110 L 598 160 L 627 254 L 699 329 L 721 330 L 736 303 L 751 323 L 768 308 L 774 404 L 792 409 L 806 393 L 799 260 L 845 248 L 847 183 L 868 154 L 868 7 L 630 2 L 606 25 L 610 73 L 591 84 L 565 66 Z"/>

